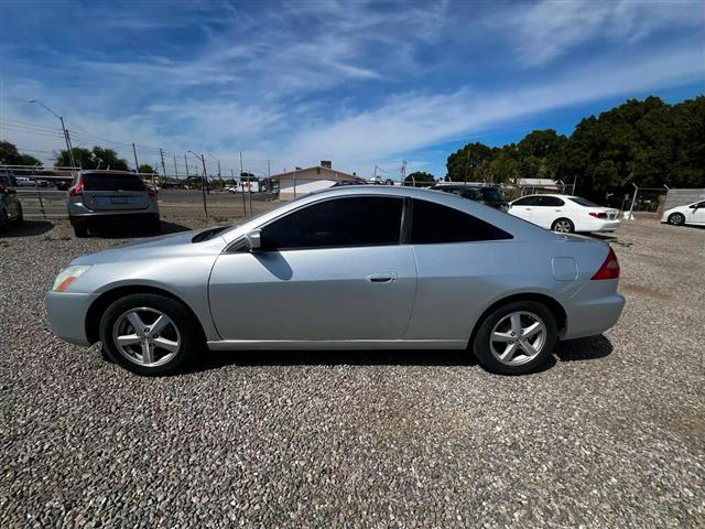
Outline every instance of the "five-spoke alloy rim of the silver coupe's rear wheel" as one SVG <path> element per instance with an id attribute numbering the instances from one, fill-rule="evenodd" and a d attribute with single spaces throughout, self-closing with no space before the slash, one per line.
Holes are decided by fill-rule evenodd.
<path id="1" fill-rule="evenodd" d="M 532 312 L 511 312 L 503 316 L 489 337 L 489 348 L 507 366 L 533 360 L 546 343 L 546 326 Z"/>

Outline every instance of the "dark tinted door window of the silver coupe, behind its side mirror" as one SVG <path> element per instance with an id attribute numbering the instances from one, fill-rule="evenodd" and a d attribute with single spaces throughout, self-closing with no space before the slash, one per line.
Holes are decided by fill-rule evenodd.
<path id="1" fill-rule="evenodd" d="M 265 226 L 265 248 L 330 248 L 398 245 L 403 199 L 334 198 L 306 206 Z"/>

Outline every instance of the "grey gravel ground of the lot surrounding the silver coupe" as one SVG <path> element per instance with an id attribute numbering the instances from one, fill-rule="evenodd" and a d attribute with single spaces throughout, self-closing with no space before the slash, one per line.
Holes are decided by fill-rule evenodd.
<path id="1" fill-rule="evenodd" d="M 135 377 L 45 323 L 59 267 L 106 235 L 0 239 L 0 527 L 705 525 L 705 229 L 623 226 L 619 324 L 519 378 L 447 352 Z"/>

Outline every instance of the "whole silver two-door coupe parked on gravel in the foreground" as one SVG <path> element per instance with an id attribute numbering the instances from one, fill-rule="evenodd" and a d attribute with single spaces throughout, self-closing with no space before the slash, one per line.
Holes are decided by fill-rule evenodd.
<path id="1" fill-rule="evenodd" d="M 557 339 L 611 327 L 618 278 L 603 241 L 448 193 L 345 186 L 79 257 L 46 309 L 57 336 L 101 342 L 140 375 L 176 371 L 204 346 L 466 349 L 518 375 Z"/>

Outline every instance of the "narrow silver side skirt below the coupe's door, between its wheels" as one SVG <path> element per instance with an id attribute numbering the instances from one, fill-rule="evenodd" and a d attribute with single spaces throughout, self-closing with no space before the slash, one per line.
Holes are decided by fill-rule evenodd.
<path id="1" fill-rule="evenodd" d="M 223 339 L 210 350 L 465 349 L 465 339 Z"/>

